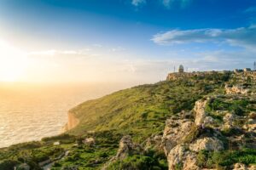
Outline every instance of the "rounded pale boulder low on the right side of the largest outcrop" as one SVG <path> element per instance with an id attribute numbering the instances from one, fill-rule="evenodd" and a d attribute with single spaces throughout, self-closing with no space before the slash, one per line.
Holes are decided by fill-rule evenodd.
<path id="1" fill-rule="evenodd" d="M 199 150 L 219 151 L 224 150 L 224 144 L 215 137 L 197 139 L 194 144 L 189 145 L 189 150 L 196 152 Z"/>

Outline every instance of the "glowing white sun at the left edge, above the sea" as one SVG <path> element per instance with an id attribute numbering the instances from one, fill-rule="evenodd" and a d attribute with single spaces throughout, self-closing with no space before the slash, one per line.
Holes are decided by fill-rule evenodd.
<path id="1" fill-rule="evenodd" d="M 0 40 L 0 82 L 19 81 L 26 65 L 26 53 Z"/>

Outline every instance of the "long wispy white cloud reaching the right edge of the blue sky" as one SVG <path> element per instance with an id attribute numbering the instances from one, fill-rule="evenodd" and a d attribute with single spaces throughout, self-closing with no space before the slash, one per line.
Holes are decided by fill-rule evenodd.
<path id="1" fill-rule="evenodd" d="M 241 27 L 236 29 L 195 29 L 172 30 L 158 33 L 151 39 L 160 45 L 172 45 L 192 42 L 227 42 L 233 46 L 255 48 L 256 27 Z"/>

